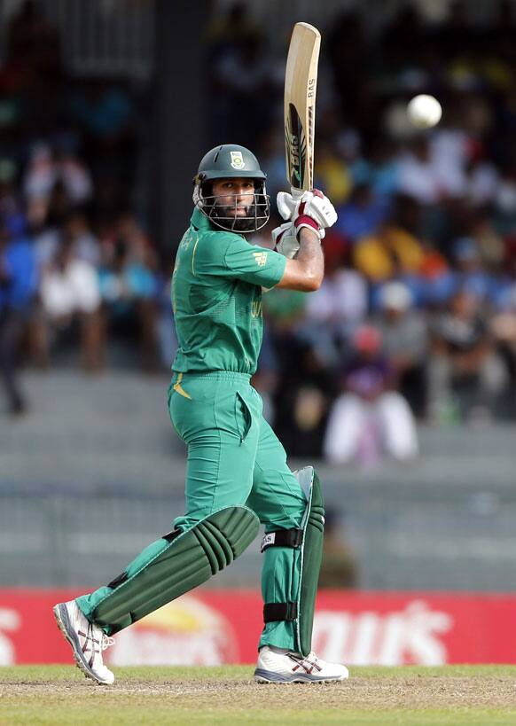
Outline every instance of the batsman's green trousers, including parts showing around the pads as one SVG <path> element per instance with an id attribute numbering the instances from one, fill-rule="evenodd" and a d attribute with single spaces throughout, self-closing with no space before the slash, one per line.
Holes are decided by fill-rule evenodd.
<path id="1" fill-rule="evenodd" d="M 262 398 L 245 374 L 218 371 L 174 374 L 168 409 L 188 446 L 184 516 L 174 526 L 187 530 L 222 507 L 246 504 L 265 531 L 301 526 L 307 502 L 286 465 L 285 449 L 262 415 Z M 262 597 L 266 603 L 297 599 L 301 550 L 270 547 L 263 554 Z M 105 588 L 79 597 L 89 616 Z M 265 625 L 259 647 L 293 649 L 293 622 Z"/>

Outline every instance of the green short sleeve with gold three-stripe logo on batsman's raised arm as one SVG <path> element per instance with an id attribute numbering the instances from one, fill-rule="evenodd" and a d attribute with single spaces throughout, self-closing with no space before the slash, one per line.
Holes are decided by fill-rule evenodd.
<path id="1" fill-rule="evenodd" d="M 286 258 L 265 247 L 249 245 L 239 235 L 215 233 L 202 240 L 194 265 L 199 273 L 274 287 L 285 273 Z"/>

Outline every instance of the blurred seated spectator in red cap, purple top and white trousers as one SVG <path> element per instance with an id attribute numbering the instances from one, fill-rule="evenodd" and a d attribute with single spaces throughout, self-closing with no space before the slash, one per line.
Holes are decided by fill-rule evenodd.
<path id="1" fill-rule="evenodd" d="M 342 393 L 330 412 L 324 457 L 332 464 L 357 458 L 366 463 L 383 453 L 399 461 L 416 457 L 416 425 L 403 396 L 392 390 L 393 371 L 381 353 L 378 330 L 361 326 L 353 346 L 341 371 Z"/>

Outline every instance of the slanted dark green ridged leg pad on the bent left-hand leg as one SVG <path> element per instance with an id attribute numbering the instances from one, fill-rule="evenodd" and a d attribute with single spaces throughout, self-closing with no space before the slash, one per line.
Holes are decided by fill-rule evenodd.
<path id="1" fill-rule="evenodd" d="M 90 621 L 116 633 L 184 595 L 230 565 L 253 542 L 259 519 L 247 507 L 224 507 L 186 532 L 152 543 L 104 590 Z"/>

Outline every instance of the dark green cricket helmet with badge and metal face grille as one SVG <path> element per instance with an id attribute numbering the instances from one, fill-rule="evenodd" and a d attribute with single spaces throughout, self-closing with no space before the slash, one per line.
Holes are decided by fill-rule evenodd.
<path id="1" fill-rule="evenodd" d="M 270 201 L 265 188 L 266 176 L 253 152 L 238 144 L 222 144 L 207 152 L 200 161 L 199 170 L 193 179 L 193 202 L 210 222 L 238 233 L 260 230 L 270 217 Z M 246 215 L 238 216 L 237 209 L 224 207 L 220 195 L 215 196 L 212 182 L 215 179 L 254 180 L 254 195 L 246 207 Z"/>

